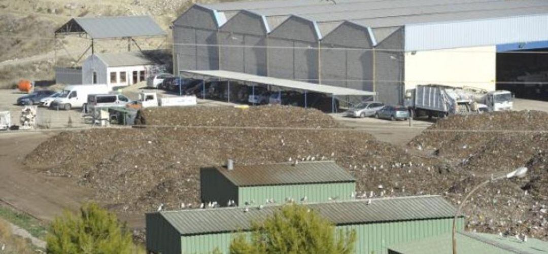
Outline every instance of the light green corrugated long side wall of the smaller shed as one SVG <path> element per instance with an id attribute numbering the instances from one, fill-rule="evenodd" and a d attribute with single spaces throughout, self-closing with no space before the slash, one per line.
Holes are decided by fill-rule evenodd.
<path id="1" fill-rule="evenodd" d="M 300 199 L 307 197 L 307 202 L 326 202 L 329 198 L 349 200 L 356 189 L 356 183 L 317 183 L 293 184 L 275 186 L 239 187 L 238 203 L 243 205 L 254 202 L 255 205 L 265 204 L 266 199 L 274 199 L 276 203 L 285 203 L 286 198 Z"/>

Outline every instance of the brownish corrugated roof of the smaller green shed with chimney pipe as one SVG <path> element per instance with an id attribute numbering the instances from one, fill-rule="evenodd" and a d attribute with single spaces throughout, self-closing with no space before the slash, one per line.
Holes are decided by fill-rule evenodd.
<path id="1" fill-rule="evenodd" d="M 348 171 L 334 161 L 303 161 L 297 165 L 291 163 L 235 165 L 233 170 L 216 169 L 240 187 L 356 181 Z"/>

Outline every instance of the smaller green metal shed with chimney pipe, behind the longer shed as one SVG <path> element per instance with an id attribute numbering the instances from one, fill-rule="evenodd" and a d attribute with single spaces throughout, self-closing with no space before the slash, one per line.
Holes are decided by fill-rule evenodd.
<path id="1" fill-rule="evenodd" d="M 200 182 L 202 201 L 216 201 L 221 206 L 227 206 L 229 200 L 240 206 L 285 203 L 288 199 L 298 203 L 349 200 L 356 189 L 356 179 L 334 161 L 204 168 Z"/>

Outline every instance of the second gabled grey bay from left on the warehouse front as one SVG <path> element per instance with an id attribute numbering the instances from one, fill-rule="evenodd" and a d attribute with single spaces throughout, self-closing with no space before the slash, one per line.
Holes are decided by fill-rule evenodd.
<path id="1" fill-rule="evenodd" d="M 238 11 L 220 28 L 220 70 L 266 76 L 266 32 L 262 16 Z"/>

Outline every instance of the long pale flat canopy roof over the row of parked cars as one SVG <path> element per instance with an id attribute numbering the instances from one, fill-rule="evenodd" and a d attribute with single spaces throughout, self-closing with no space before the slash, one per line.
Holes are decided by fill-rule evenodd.
<path id="1" fill-rule="evenodd" d="M 321 84 L 308 83 L 308 82 L 302 82 L 302 81 L 296 81 L 296 80 L 290 80 L 290 79 L 257 76 L 253 74 L 240 73 L 240 72 L 220 71 L 220 70 L 219 71 L 217 70 L 214 70 L 214 71 L 186 70 L 181 72 L 196 74 L 199 76 L 208 76 L 208 77 L 215 77 L 215 78 L 228 79 L 228 80 L 238 80 L 242 82 L 274 85 L 274 86 L 279 86 L 283 88 L 312 91 L 316 93 L 330 94 L 330 95 L 358 95 L 358 96 L 375 95 L 375 93 L 371 91 L 362 91 L 362 90 L 343 88 L 343 87 L 333 86 L 333 85 L 321 85 Z"/>

